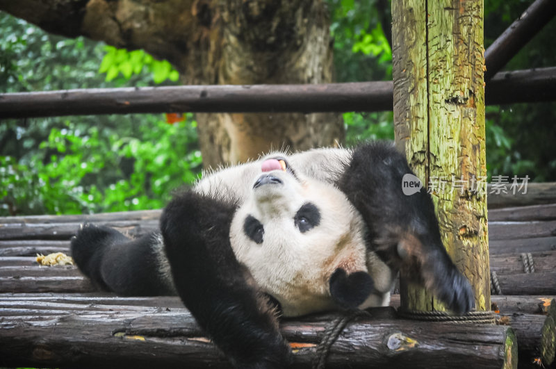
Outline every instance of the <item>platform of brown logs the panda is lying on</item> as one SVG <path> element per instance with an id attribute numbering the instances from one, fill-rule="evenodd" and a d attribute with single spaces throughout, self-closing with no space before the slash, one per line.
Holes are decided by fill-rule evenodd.
<path id="1" fill-rule="evenodd" d="M 543 183 L 539 191 L 530 188 L 529 197 L 493 196 L 496 209 L 489 208 L 491 270 L 504 294 L 493 296 L 501 326 L 462 329 L 461 325 L 408 322 L 397 318 L 393 309 L 377 309 L 373 318 L 347 327 L 332 346 L 329 367 L 468 368 L 468 362 L 459 361 L 469 357 L 475 358 L 477 368 L 497 367 L 499 358 L 489 361 L 488 357 L 500 354 L 487 350 L 494 347 L 487 341 L 498 345 L 502 338 L 497 337 L 507 334 L 505 327 L 512 322 L 521 367 L 532 365 L 541 355 L 550 358 L 550 352 L 548 356 L 541 352 L 546 343 L 540 340 L 543 329 L 552 329 L 549 341 L 550 334 L 553 341 L 556 336 L 556 304 L 550 306 L 556 297 L 556 183 Z M 117 297 L 96 290 L 74 266 L 47 267 L 35 261 L 36 254 L 70 254 L 69 240 L 82 222 L 140 235 L 156 229 L 159 215 L 160 211 L 138 211 L 0 218 L 0 367 L 227 367 L 224 356 L 204 337 L 177 297 Z M 526 257 L 534 262 L 532 273 L 525 272 Z M 397 304 L 399 297 L 394 295 L 392 305 Z M 283 323 L 281 329 L 295 352 L 295 367 L 310 365 L 333 316 Z M 434 335 L 427 336 L 431 325 L 435 325 Z M 411 351 L 411 345 L 404 346 L 409 341 L 403 340 L 402 346 L 391 347 L 396 334 L 410 336 L 408 327 L 411 337 L 421 342 L 420 348 Z M 384 341 L 384 337 L 390 338 Z M 461 360 L 446 358 L 451 350 Z"/>

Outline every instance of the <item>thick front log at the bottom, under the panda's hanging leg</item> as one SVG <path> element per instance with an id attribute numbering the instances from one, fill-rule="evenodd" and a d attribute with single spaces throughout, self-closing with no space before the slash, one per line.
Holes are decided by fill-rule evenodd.
<path id="1" fill-rule="evenodd" d="M 42 320 L 22 313 L 1 319 L 0 364 L 229 367 L 184 309 L 141 314 L 105 308 L 84 315 L 65 310 Z M 281 323 L 282 333 L 295 347 L 293 368 L 310 366 L 327 324 L 316 318 Z M 332 345 L 327 367 L 514 368 L 516 349 L 509 327 L 370 318 L 346 327 Z"/>

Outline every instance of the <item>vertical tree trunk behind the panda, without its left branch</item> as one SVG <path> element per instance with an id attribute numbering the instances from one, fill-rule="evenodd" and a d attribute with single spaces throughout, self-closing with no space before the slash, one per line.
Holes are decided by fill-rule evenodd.
<path id="1" fill-rule="evenodd" d="M 215 83 L 332 81 L 329 20 L 321 1 L 219 3 L 222 50 Z M 207 70 L 210 75 L 212 70 Z M 343 142 L 334 114 L 197 114 L 204 163 L 238 163 L 270 149 Z"/>

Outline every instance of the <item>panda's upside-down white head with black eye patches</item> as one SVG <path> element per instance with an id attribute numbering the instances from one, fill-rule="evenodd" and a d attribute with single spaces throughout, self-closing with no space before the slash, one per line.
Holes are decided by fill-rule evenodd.
<path id="1" fill-rule="evenodd" d="M 267 158 L 231 223 L 240 263 L 286 316 L 334 309 L 331 278 L 368 276 L 361 215 L 332 184 Z M 334 277 L 333 277 L 334 276 Z"/>

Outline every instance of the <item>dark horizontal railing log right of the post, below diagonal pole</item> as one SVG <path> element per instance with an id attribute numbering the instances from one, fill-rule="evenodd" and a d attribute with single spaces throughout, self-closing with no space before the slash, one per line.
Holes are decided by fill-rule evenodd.
<path id="1" fill-rule="evenodd" d="M 520 92 L 514 95 L 517 90 Z M 554 101 L 556 67 L 500 72 L 486 82 L 484 96 L 487 105 L 511 104 L 512 100 L 522 103 Z"/>

